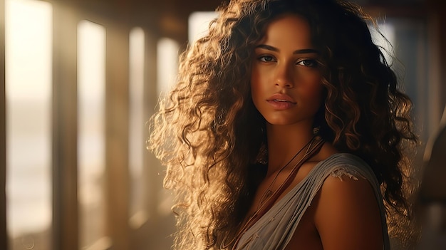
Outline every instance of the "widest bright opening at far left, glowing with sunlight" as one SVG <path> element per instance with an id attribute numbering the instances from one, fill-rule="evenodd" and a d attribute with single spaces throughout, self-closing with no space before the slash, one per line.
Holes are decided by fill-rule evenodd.
<path id="1" fill-rule="evenodd" d="M 5 0 L 11 239 L 51 229 L 52 11 L 45 1 Z"/>

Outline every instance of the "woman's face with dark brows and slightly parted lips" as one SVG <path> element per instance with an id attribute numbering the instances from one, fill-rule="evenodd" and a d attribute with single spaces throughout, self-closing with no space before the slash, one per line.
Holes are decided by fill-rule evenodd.
<path id="1" fill-rule="evenodd" d="M 308 22 L 285 15 L 266 27 L 254 50 L 251 95 L 272 125 L 313 124 L 323 86 Z"/>

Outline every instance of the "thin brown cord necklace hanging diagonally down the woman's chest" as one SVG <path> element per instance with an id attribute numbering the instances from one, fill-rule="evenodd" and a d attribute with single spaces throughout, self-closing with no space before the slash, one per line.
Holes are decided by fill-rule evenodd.
<path id="1" fill-rule="evenodd" d="M 279 172 L 274 177 L 273 182 L 271 182 L 271 184 L 269 184 L 268 189 L 262 195 L 261 199 L 264 199 L 264 201 L 260 202 L 259 207 L 257 207 L 254 214 L 252 214 L 251 217 L 249 217 L 249 219 L 247 219 L 247 221 L 244 222 L 243 226 L 239 229 L 239 231 L 237 231 L 237 234 L 235 234 L 234 238 L 232 238 L 232 240 L 229 241 L 229 243 L 226 244 L 227 237 L 225 237 L 223 239 L 223 242 L 222 242 L 223 249 L 227 249 L 231 245 L 232 245 L 232 249 L 234 249 L 237 246 L 237 244 L 239 243 L 239 240 L 242 238 L 243 234 L 252 225 L 254 225 L 274 205 L 274 202 L 276 202 L 276 199 L 279 198 L 280 194 L 284 191 L 284 189 L 286 189 L 286 187 L 288 187 L 291 184 L 291 182 L 293 181 L 294 177 L 297 174 L 297 170 L 299 170 L 301 165 L 304 164 L 304 162 L 306 162 L 306 160 L 311 158 L 316 152 L 318 152 L 318 150 L 321 149 L 322 145 L 323 145 L 323 139 L 320 136 L 315 135 L 310 140 L 310 142 L 308 142 L 304 147 L 302 147 L 302 149 L 299 150 L 299 152 L 297 152 L 296 155 L 294 155 L 294 157 L 291 158 L 291 160 L 286 163 L 286 165 L 284 167 L 281 167 Z M 286 177 L 285 181 L 281 183 L 279 188 L 276 189 L 274 192 L 272 192 L 272 190 L 270 190 L 270 188 L 271 188 L 272 184 L 276 181 L 280 172 L 282 170 L 284 170 L 286 168 L 286 166 L 289 165 L 297 157 L 297 155 L 299 155 L 299 153 L 304 150 L 304 148 L 306 148 L 306 152 L 305 152 L 304 156 L 299 160 L 299 162 L 296 163 L 296 165 L 294 165 L 294 167 L 291 169 L 289 175 Z M 269 193 L 269 194 L 266 194 L 266 193 Z M 266 197 L 264 197 L 264 196 L 266 196 Z"/>

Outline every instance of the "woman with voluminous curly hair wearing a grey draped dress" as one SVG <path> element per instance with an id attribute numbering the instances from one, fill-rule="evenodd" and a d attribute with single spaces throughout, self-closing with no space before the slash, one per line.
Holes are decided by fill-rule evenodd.
<path id="1" fill-rule="evenodd" d="M 417 137 L 368 21 L 336 0 L 219 8 L 152 120 L 176 249 L 390 248 Z"/>

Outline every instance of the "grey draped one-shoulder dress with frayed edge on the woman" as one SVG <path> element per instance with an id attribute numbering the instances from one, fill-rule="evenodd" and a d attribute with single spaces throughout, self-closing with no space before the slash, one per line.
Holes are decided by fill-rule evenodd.
<path id="1" fill-rule="evenodd" d="M 385 208 L 380 193 L 380 185 L 373 171 L 361 158 L 339 153 L 319 162 L 308 175 L 289 193 L 281 198 L 263 217 L 249 228 L 237 244 L 238 250 L 285 249 L 299 222 L 310 206 L 325 179 L 329 176 L 358 178 L 370 182 L 375 192 L 381 214 L 383 228 L 383 249 L 390 249 Z"/>

